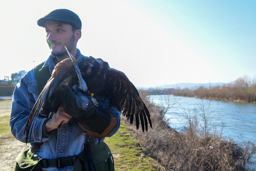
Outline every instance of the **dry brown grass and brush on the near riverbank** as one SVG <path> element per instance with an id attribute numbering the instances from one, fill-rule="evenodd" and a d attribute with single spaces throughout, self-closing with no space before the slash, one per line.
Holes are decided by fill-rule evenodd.
<path id="1" fill-rule="evenodd" d="M 162 119 L 162 110 L 140 92 L 153 121 L 153 129 L 136 131 L 141 146 L 168 171 L 252 171 L 249 166 L 256 152 L 251 142 L 236 144 L 210 131 L 202 130 L 197 121 L 178 133 Z M 207 123 L 206 123 L 207 124 Z M 206 133 L 206 134 L 205 134 Z"/>

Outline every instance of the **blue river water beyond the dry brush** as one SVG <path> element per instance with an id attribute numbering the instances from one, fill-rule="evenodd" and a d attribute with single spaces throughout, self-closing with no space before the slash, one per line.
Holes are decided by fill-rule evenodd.
<path id="1" fill-rule="evenodd" d="M 187 126 L 188 117 L 196 116 L 199 123 L 203 125 L 202 116 L 207 116 L 208 123 L 215 125 L 216 130 L 222 132 L 222 137 L 233 139 L 236 142 L 256 141 L 255 103 L 197 99 L 173 95 L 150 95 L 150 99 L 158 106 L 165 107 L 167 107 L 167 101 L 169 101 L 170 109 L 165 117 L 169 119 L 170 127 L 177 131 Z M 202 109 L 204 109 L 204 112 Z"/>

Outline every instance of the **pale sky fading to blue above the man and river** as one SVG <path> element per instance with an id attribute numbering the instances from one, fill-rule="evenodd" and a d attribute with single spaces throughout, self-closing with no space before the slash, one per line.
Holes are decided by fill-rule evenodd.
<path id="1" fill-rule="evenodd" d="M 0 0 L 0 79 L 50 55 L 37 20 L 67 8 L 82 21 L 78 49 L 136 87 L 256 76 L 254 0 Z"/>

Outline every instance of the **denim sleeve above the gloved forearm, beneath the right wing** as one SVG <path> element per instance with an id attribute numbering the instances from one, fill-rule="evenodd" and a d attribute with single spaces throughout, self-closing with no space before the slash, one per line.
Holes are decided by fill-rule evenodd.
<path id="1" fill-rule="evenodd" d="M 99 108 L 101 108 L 102 110 L 105 110 L 107 112 L 111 112 L 116 118 L 117 118 L 117 126 L 115 127 L 115 129 L 113 129 L 113 131 L 107 135 L 107 137 L 111 137 L 112 135 L 114 135 L 115 133 L 117 133 L 119 127 L 120 127 L 120 122 L 121 122 L 121 111 L 117 110 L 117 108 L 114 107 L 110 107 L 109 106 L 109 100 L 103 100 L 103 99 L 98 99 L 99 102 Z"/>

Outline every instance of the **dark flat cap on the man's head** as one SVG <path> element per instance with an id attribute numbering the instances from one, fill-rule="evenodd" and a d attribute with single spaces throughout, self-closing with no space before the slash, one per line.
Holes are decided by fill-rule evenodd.
<path id="1" fill-rule="evenodd" d="M 56 9 L 37 21 L 37 25 L 45 27 L 46 21 L 54 23 L 67 23 L 75 27 L 76 30 L 82 29 L 82 22 L 78 15 L 68 9 Z"/>

